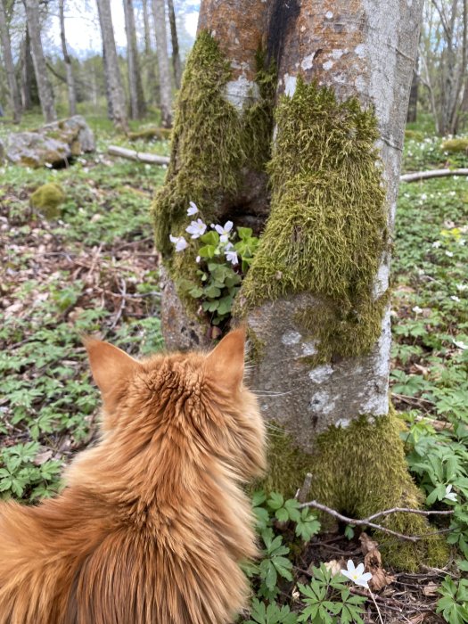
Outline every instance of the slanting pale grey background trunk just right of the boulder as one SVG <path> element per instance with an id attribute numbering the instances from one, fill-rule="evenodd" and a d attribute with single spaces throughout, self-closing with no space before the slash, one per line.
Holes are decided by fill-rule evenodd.
<path id="1" fill-rule="evenodd" d="M 119 59 L 115 49 L 111 4 L 109 0 L 96 0 L 96 2 L 99 12 L 101 34 L 103 37 L 104 70 L 106 73 L 108 102 L 110 103 L 112 120 L 115 127 L 122 132 L 127 132 L 128 124 L 125 94 L 120 78 Z"/>

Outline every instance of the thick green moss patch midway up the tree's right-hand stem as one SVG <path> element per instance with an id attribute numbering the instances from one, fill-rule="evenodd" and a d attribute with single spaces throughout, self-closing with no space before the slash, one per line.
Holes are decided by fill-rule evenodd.
<path id="1" fill-rule="evenodd" d="M 276 122 L 267 167 L 271 213 L 234 313 L 245 316 L 267 300 L 308 291 L 322 301 L 314 308 L 314 335 L 333 341 L 319 345 L 320 357 L 345 355 L 344 335 L 354 355 L 363 353 L 380 335 L 386 304 L 373 297 L 388 248 L 374 111 L 354 98 L 338 103 L 332 90 L 298 80 Z M 306 316 L 301 320 L 311 325 Z"/>

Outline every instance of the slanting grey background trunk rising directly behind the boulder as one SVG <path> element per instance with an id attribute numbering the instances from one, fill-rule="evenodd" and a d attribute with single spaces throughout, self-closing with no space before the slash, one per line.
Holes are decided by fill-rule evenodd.
<path id="1" fill-rule="evenodd" d="M 39 24 L 38 0 L 24 0 L 26 8 L 26 21 L 28 22 L 29 40 L 31 45 L 32 61 L 39 91 L 42 112 L 48 123 L 57 119 L 53 103 L 52 85 L 47 75 L 44 51 L 42 49 L 41 32 Z"/>

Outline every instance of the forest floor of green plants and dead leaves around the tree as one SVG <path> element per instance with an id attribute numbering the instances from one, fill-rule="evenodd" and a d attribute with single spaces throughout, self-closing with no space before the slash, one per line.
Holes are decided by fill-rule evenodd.
<path id="1" fill-rule="evenodd" d="M 23 126 L 28 125 L 37 126 L 37 118 L 25 119 Z M 135 356 L 162 348 L 159 260 L 149 209 L 165 170 L 111 159 L 106 149 L 117 143 L 168 154 L 169 146 L 127 144 L 100 119 L 94 119 L 94 128 L 97 152 L 78 158 L 70 168 L 0 168 L 4 498 L 36 502 L 53 496 L 63 466 L 94 437 L 99 398 L 86 365 L 83 333 L 99 333 Z M 2 124 L 0 137 L 10 130 Z M 423 131 L 408 138 L 404 169 L 468 166 L 466 155 L 448 155 L 440 144 L 439 138 Z M 54 220 L 29 206 L 31 193 L 45 182 L 62 185 L 66 194 Z M 402 435 L 408 466 L 428 497 L 427 505 L 454 508 L 446 498 L 452 486 L 462 511 L 447 533 L 453 548 L 447 568 L 417 574 L 389 571 L 391 579 L 376 592 L 385 622 L 468 621 L 463 579 L 468 570 L 468 517 L 462 517 L 468 500 L 467 266 L 468 177 L 402 184 L 392 278 L 393 401 L 406 423 Z M 275 513 L 271 501 L 259 502 L 270 515 Z M 249 621 L 296 621 L 296 585 L 307 584 L 312 566 L 328 562 L 329 567 L 346 567 L 348 559 L 361 561 L 362 540 L 351 528 L 343 529 L 344 533 L 314 535 L 308 546 L 291 548 L 292 581 L 286 575 L 278 581 L 275 601 L 270 601 L 279 605 L 279 614 L 262 612 L 264 594 L 259 607 L 246 616 Z M 367 596 L 357 587 L 353 591 Z M 453 608 L 436 614 L 446 597 Z M 287 603 L 289 615 L 280 609 Z M 379 621 L 374 603 L 367 600 L 363 605 L 362 619 Z"/>

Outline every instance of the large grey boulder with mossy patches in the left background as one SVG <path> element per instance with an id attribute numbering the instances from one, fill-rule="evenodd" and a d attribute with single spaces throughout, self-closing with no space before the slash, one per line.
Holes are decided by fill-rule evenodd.
<path id="1" fill-rule="evenodd" d="M 8 160 L 32 168 L 61 166 L 94 149 L 93 131 L 81 115 L 53 121 L 33 132 L 12 133 L 4 145 Z"/>

